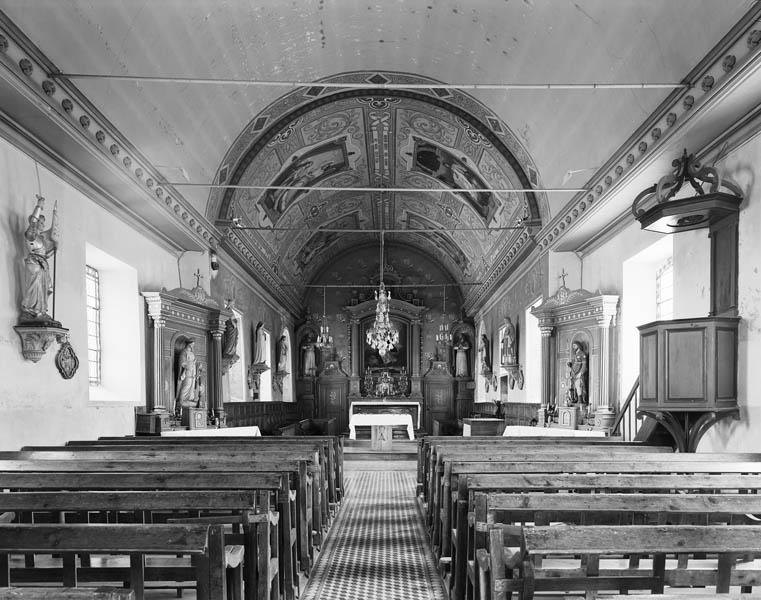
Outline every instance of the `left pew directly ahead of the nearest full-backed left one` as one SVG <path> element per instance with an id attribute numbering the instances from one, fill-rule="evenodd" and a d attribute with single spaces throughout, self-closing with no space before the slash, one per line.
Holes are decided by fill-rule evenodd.
<path id="1" fill-rule="evenodd" d="M 149 513 L 146 515 L 148 523 L 166 521 L 167 515 L 177 517 L 185 511 L 194 511 L 196 516 L 200 512 L 213 511 L 215 516 L 211 518 L 211 522 L 234 524 L 234 529 L 242 526 L 243 530 L 241 534 L 225 534 L 226 545 L 239 545 L 244 549 L 243 568 L 228 569 L 228 584 L 236 591 L 231 595 L 239 597 L 240 584 L 245 582 L 247 600 L 269 600 L 280 596 L 279 515 L 269 510 L 272 503 L 270 494 L 278 491 L 280 483 L 273 483 L 268 490 L 262 490 L 260 487 L 256 491 L 4 492 L 0 493 L 0 511 L 51 512 L 55 513 L 61 522 L 67 522 L 64 514 L 67 512 L 75 513 L 73 516 L 82 511 L 99 512 L 104 513 L 107 519 L 118 520 L 119 513 L 137 511 Z M 227 511 L 229 514 L 223 516 L 220 511 Z M 89 517 L 89 514 L 87 516 Z M 199 521 L 188 519 L 187 516 L 179 520 L 209 521 L 208 518 L 202 517 Z M 178 522 L 178 519 L 172 521 Z M 292 569 L 290 561 L 286 560 L 286 563 Z M 242 580 L 238 578 L 239 575 L 242 576 Z M 292 585 L 287 585 L 287 579 L 285 583 L 285 597 L 296 598 L 297 590 L 294 590 Z"/>

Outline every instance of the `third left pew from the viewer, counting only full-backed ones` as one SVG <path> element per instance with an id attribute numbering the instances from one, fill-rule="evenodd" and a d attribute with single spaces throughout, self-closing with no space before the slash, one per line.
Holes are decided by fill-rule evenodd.
<path id="1" fill-rule="evenodd" d="M 139 491 L 178 491 L 180 493 L 199 491 L 243 491 L 258 493 L 269 491 L 277 494 L 279 514 L 279 540 L 272 554 L 279 558 L 280 588 L 288 596 L 295 595 L 298 588 L 297 561 L 302 558 L 296 548 L 296 531 L 293 525 L 293 502 L 284 475 L 280 473 L 229 473 L 198 472 L 77 472 L 77 471 L 0 471 L 0 489 L 45 492 L 58 490 L 79 491 L 119 491 L 123 494 Z M 0 501 L 4 496 L 0 495 Z M 142 509 L 141 509 L 142 510 Z M 147 508 L 146 508 L 147 510 Z M 26 513 L 20 513 L 23 516 Z M 31 513 L 29 514 L 30 520 Z M 309 549 L 303 559 L 309 561 Z M 30 561 L 28 566 L 32 566 Z"/>

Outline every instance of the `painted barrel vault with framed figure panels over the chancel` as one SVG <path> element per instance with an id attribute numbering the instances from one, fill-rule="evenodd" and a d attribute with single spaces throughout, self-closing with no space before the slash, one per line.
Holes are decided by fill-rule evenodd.
<path id="1" fill-rule="evenodd" d="M 364 76 L 378 84 L 420 81 Z M 538 186 L 538 171 L 485 107 L 461 92 L 437 92 L 316 86 L 284 96 L 228 152 L 217 182 L 236 187 L 212 192 L 210 216 L 222 224 L 237 219 L 241 227 L 228 227 L 228 237 L 269 257 L 272 272 L 297 293 L 351 248 L 379 244 L 380 229 L 391 230 L 384 233 L 389 247 L 417 248 L 455 281 L 477 282 L 521 223 L 538 226 L 546 217 L 546 198 L 483 191 Z M 389 188 L 405 191 L 382 191 Z"/>

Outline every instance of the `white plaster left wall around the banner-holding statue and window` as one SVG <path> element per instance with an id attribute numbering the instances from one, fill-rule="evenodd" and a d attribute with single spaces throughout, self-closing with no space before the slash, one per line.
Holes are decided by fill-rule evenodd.
<path id="1" fill-rule="evenodd" d="M 123 221 L 40 167 L 45 214 L 58 200 L 61 244 L 57 266 L 56 318 L 70 329 L 80 359 L 74 378 L 61 378 L 53 362 L 57 346 L 38 363 L 24 360 L 13 326 L 18 319 L 25 256 L 23 231 L 38 192 L 34 161 L 0 140 L 0 449 L 27 444 L 61 444 L 71 439 L 124 435 L 134 431 L 134 406 L 145 402 L 145 331 L 142 303 L 139 323 L 139 402 L 91 402 L 87 376 L 85 243 L 137 271 L 140 290 L 172 288 L 178 283 L 177 260 Z M 183 281 L 185 285 L 187 283 Z M 208 285 L 208 284 L 207 284 Z"/>

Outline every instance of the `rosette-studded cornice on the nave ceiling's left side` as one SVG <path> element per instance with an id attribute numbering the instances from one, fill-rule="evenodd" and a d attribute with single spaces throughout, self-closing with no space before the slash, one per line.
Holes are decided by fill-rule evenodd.
<path id="1" fill-rule="evenodd" d="M 164 176 L 73 83 L 57 78 L 60 69 L 0 12 L 2 70 L 17 89 L 23 88 L 38 106 L 44 105 L 46 114 L 55 118 L 72 138 L 85 142 L 93 154 L 125 175 L 134 189 L 161 207 L 202 247 L 218 242 L 219 234 L 206 217 L 167 184 Z"/>

